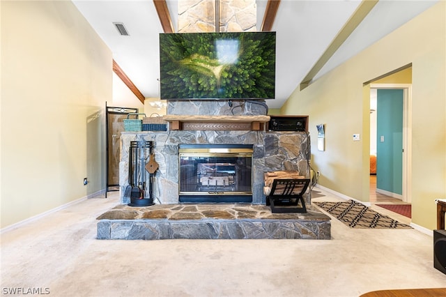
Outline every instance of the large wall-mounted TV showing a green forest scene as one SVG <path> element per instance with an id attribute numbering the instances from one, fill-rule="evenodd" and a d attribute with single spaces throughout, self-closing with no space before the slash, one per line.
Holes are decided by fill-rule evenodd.
<path id="1" fill-rule="evenodd" d="M 162 99 L 275 98 L 275 32 L 161 33 Z"/>

